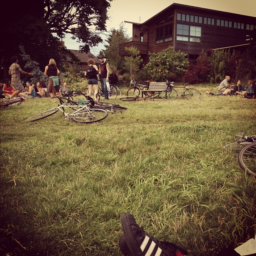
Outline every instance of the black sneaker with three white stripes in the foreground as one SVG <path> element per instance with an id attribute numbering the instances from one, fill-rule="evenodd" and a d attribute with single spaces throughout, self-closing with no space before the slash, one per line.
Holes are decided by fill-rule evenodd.
<path id="1" fill-rule="evenodd" d="M 144 232 L 135 221 L 133 215 L 130 213 L 123 213 L 121 215 L 121 223 L 123 227 L 123 233 L 127 246 L 132 256 L 184 256 L 187 255 L 187 251 L 167 241 L 158 241 L 153 236 Z M 122 236 L 121 236 L 122 238 Z M 120 238 L 120 239 L 121 239 Z M 125 249 L 123 238 L 121 243 L 122 249 L 120 250 L 128 253 Z M 176 251 L 180 252 L 176 252 Z M 124 254 L 128 256 L 130 254 Z"/>

